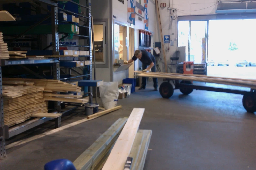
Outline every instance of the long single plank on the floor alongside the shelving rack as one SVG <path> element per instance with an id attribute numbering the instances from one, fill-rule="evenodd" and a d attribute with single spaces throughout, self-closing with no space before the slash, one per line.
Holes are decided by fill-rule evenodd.
<path id="1" fill-rule="evenodd" d="M 108 109 L 108 110 L 110 110 L 110 109 Z M 62 131 L 62 130 L 65 130 L 65 129 L 67 129 L 67 128 L 76 126 L 76 125 L 78 125 L 78 124 L 81 124 L 81 123 L 84 123 L 84 122 L 87 122 L 87 121 L 90 121 L 90 120 L 93 120 L 93 119 L 98 118 L 98 117 L 100 117 L 100 116 L 102 116 L 102 115 L 98 115 L 97 117 L 93 117 L 93 118 L 90 118 L 90 119 L 85 118 L 85 119 L 78 120 L 78 121 L 76 121 L 76 122 L 67 124 L 67 125 L 65 125 L 65 126 L 61 126 L 61 127 L 59 127 L 59 128 L 50 130 L 50 131 L 48 131 L 48 132 L 44 132 L 44 133 L 42 133 L 42 134 L 35 135 L 35 136 L 30 137 L 30 138 L 26 138 L 26 139 L 23 139 L 23 140 L 20 140 L 20 141 L 17 141 L 17 142 L 13 142 L 13 143 L 7 145 L 5 148 L 6 148 L 6 149 L 9 149 L 9 148 L 12 148 L 12 147 L 15 147 L 15 146 L 19 146 L 19 145 L 25 144 L 25 143 L 27 143 L 27 142 L 31 142 L 31 141 L 33 141 L 33 140 L 35 140 L 35 139 L 39 139 L 39 138 L 41 138 L 41 137 L 54 134 L 54 133 L 56 133 L 56 132 L 60 132 L 60 131 Z"/>

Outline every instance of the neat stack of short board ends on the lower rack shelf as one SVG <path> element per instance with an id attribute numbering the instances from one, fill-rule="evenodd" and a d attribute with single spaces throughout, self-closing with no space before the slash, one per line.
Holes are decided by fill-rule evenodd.
<path id="1" fill-rule="evenodd" d="M 43 99 L 44 87 L 9 84 L 12 83 L 7 82 L 7 85 L 3 85 L 5 125 L 12 126 L 24 122 L 32 114 L 48 112 L 48 102 Z"/>

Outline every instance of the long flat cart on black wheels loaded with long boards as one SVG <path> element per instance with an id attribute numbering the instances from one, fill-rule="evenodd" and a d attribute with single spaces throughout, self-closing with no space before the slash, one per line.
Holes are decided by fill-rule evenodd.
<path id="1" fill-rule="evenodd" d="M 243 106 L 247 112 L 256 112 L 256 80 L 240 78 L 224 78 L 205 75 L 190 75 L 178 73 L 142 73 L 137 72 L 139 77 L 163 78 L 165 81 L 160 85 L 159 92 L 163 98 L 170 98 L 175 89 L 179 89 L 184 95 L 188 95 L 196 90 L 207 90 L 213 92 L 225 92 L 243 95 Z M 193 81 L 224 84 L 250 88 L 250 91 L 232 90 L 208 86 L 193 85 Z M 173 85 L 171 84 L 173 83 Z"/>

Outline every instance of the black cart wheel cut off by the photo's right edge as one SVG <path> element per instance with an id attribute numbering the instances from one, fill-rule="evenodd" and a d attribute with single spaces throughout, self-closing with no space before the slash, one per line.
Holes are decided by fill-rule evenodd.
<path id="1" fill-rule="evenodd" d="M 254 113 L 256 111 L 256 96 L 254 93 L 247 92 L 244 94 L 243 106 L 247 112 Z"/>

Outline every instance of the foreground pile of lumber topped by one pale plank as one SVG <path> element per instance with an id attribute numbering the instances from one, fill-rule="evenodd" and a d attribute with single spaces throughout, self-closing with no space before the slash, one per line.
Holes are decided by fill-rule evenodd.
<path id="1" fill-rule="evenodd" d="M 132 157 L 131 170 L 143 170 L 152 135 L 151 130 L 138 130 L 143 112 L 144 109 L 134 108 L 128 120 L 118 119 L 73 162 L 75 168 L 124 169 L 127 157 Z"/>

